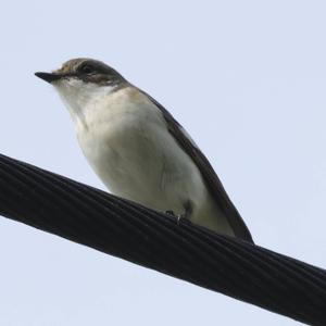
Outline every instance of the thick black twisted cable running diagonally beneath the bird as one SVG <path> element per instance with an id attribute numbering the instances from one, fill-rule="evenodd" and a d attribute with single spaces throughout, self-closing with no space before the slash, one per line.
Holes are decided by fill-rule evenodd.
<path id="1" fill-rule="evenodd" d="M 0 154 L 0 214 L 109 254 L 326 325 L 326 271 Z"/>

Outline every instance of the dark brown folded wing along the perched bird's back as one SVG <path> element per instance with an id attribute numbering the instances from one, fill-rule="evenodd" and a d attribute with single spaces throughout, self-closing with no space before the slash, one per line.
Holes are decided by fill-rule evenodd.
<path id="1" fill-rule="evenodd" d="M 179 123 L 172 116 L 172 114 L 162 106 L 155 99 L 140 90 L 146 95 L 162 112 L 171 135 L 176 139 L 178 145 L 187 152 L 192 159 L 199 171 L 201 172 L 215 202 L 217 203 L 221 211 L 225 214 L 230 227 L 233 228 L 235 236 L 246 241 L 252 242 L 251 234 L 244 224 L 239 212 L 228 198 L 220 178 L 214 172 L 212 165 L 201 150 L 197 147 L 195 141 L 190 138 L 188 133 L 179 125 Z"/>

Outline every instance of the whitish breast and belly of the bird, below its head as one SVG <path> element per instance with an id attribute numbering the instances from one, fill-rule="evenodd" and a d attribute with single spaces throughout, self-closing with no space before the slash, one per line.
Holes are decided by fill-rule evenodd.
<path id="1" fill-rule="evenodd" d="M 65 103 L 88 162 L 115 195 L 158 211 L 185 212 L 210 228 L 231 234 L 202 175 L 168 133 L 162 112 L 135 87 L 75 92 Z M 66 97 L 68 99 L 66 99 Z M 221 216 L 220 216 L 221 217 Z"/>

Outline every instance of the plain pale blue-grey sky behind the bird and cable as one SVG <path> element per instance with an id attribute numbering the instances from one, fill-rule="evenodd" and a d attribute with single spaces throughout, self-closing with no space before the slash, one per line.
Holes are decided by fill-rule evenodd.
<path id="1" fill-rule="evenodd" d="M 105 61 L 164 104 L 256 243 L 326 267 L 325 1 L 2 1 L 0 151 L 104 189 L 54 90 Z M 0 217 L 0 325 L 298 325 Z"/>

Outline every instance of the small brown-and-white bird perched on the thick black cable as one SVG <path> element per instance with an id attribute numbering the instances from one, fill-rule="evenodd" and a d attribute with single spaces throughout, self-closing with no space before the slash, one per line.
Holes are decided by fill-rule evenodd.
<path id="1" fill-rule="evenodd" d="M 35 75 L 58 91 L 84 155 L 112 193 L 253 243 L 206 156 L 150 95 L 88 58 Z"/>

